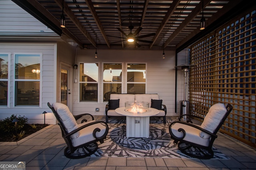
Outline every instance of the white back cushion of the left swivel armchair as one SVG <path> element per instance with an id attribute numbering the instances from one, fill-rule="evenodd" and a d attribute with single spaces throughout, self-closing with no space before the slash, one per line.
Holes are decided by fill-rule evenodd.
<path id="1" fill-rule="evenodd" d="M 54 109 L 56 110 L 58 116 L 60 117 L 60 120 L 62 121 L 60 123 L 62 123 L 62 125 L 64 125 L 64 127 L 68 133 L 70 133 L 78 128 L 76 119 L 70 112 L 68 106 L 66 106 L 62 103 L 53 103 L 52 107 L 54 107 Z M 73 135 L 71 135 L 70 137 L 73 139 L 76 139 L 79 137 L 79 135 L 80 135 L 80 132 L 76 132 Z"/>

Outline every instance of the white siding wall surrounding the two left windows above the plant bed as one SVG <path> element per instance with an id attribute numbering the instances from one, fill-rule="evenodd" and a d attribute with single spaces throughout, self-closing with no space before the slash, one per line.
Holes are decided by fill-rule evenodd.
<path id="1" fill-rule="evenodd" d="M 43 111 L 50 112 L 47 102 L 56 101 L 56 44 L 55 43 L 0 43 L 0 53 L 11 53 L 10 107 L 0 107 L 0 119 L 10 115 L 25 115 L 28 123 L 44 123 Z M 40 107 L 14 106 L 14 53 L 42 53 L 42 100 Z M 46 114 L 46 123 L 55 124 L 52 113 Z"/>

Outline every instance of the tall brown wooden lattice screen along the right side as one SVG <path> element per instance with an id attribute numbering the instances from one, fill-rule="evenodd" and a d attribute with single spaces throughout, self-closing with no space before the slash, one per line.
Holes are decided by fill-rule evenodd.
<path id="1" fill-rule="evenodd" d="M 191 46 L 190 113 L 204 117 L 215 103 L 234 107 L 220 129 L 252 147 L 255 137 L 256 11 Z"/>

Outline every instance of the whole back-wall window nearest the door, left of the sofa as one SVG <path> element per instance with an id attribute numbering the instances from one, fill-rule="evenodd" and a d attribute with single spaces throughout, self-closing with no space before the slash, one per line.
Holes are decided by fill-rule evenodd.
<path id="1" fill-rule="evenodd" d="M 80 102 L 98 102 L 98 63 L 80 63 Z"/>

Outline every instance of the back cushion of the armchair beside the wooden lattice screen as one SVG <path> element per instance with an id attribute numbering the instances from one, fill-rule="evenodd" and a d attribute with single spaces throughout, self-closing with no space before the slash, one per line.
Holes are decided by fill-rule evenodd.
<path id="1" fill-rule="evenodd" d="M 204 117 L 203 123 L 201 124 L 202 129 L 206 129 L 211 133 L 214 133 L 215 129 L 220 124 L 226 112 L 227 112 L 227 109 L 224 104 L 217 103 L 211 106 L 208 113 Z M 210 138 L 210 135 L 202 131 L 200 131 L 199 135 L 204 139 Z"/>

